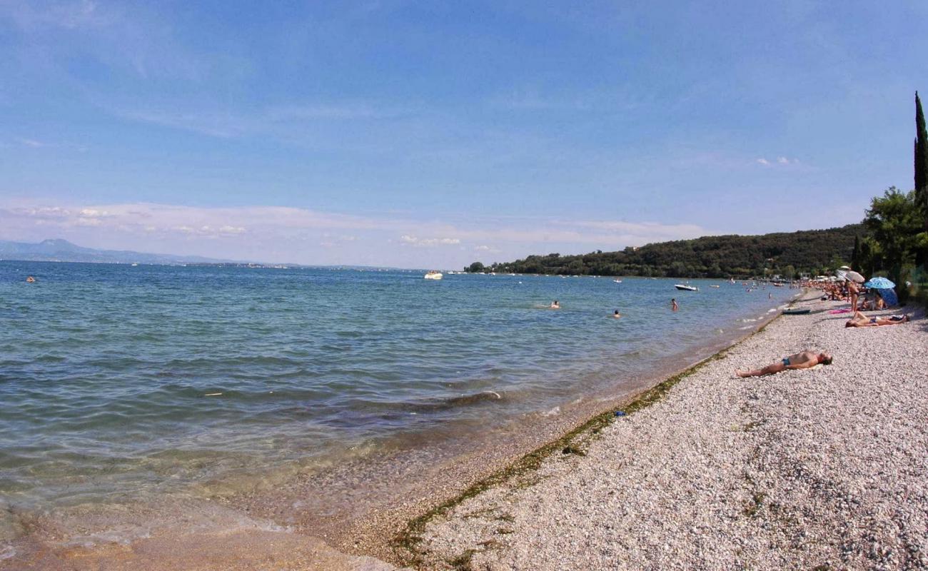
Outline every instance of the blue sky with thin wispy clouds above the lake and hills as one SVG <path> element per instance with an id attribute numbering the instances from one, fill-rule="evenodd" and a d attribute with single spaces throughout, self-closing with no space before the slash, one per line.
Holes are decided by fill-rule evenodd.
<path id="1" fill-rule="evenodd" d="M 926 24 L 922 0 L 0 0 L 0 240 L 459 268 L 842 226 L 913 186 Z"/>

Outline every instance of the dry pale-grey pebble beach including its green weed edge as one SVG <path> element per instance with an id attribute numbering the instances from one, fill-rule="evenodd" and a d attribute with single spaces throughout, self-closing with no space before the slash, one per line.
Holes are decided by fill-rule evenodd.
<path id="1" fill-rule="evenodd" d="M 633 414 L 423 517 L 425 569 L 928 567 L 928 323 L 844 328 L 814 293 Z M 896 311 L 897 312 L 897 311 Z M 889 315 L 893 311 L 870 315 Z M 831 366 L 739 379 L 804 349 Z"/>

